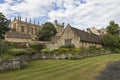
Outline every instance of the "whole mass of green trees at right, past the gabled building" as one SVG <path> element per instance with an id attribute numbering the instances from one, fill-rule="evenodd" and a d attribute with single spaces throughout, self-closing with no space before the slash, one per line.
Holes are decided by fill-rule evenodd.
<path id="1" fill-rule="evenodd" d="M 111 50 L 120 50 L 120 27 L 114 21 L 110 21 L 107 26 L 107 34 L 102 36 L 104 47 L 110 48 Z"/>

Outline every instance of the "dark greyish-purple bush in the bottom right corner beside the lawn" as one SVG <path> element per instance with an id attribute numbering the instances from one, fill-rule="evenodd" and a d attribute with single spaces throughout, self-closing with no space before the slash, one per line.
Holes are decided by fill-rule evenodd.
<path id="1" fill-rule="evenodd" d="M 96 80 L 120 80 L 120 61 L 108 64 Z"/>

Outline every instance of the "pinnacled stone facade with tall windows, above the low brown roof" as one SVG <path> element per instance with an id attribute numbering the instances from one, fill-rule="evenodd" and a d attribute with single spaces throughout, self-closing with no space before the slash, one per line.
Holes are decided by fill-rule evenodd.
<path id="1" fill-rule="evenodd" d="M 37 32 L 41 29 L 41 27 L 36 25 L 35 23 L 31 23 L 26 21 L 22 21 L 20 17 L 18 19 L 14 18 L 14 20 L 10 24 L 10 31 L 17 32 L 19 34 L 30 35 L 32 40 L 37 38 Z"/>

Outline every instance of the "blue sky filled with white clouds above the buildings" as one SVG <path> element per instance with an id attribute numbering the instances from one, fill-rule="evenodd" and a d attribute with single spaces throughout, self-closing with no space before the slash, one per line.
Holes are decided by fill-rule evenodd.
<path id="1" fill-rule="evenodd" d="M 120 0 L 0 0 L 0 12 L 8 19 L 57 20 L 79 29 L 105 28 L 111 20 L 120 25 Z"/>

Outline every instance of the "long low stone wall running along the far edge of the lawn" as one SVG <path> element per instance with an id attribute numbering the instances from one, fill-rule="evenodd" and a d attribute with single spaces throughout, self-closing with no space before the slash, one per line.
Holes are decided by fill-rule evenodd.
<path id="1" fill-rule="evenodd" d="M 106 52 L 104 54 L 109 54 L 109 52 Z M 100 55 L 100 54 L 99 54 Z M 0 60 L 0 70 L 9 70 L 9 69 L 19 69 L 22 67 L 22 64 L 24 64 L 26 61 L 31 60 L 39 60 L 39 59 L 81 59 L 85 57 L 90 56 L 96 56 L 93 54 L 51 54 L 51 53 L 37 53 L 34 55 L 20 55 L 15 57 L 14 59 L 9 60 Z"/>

